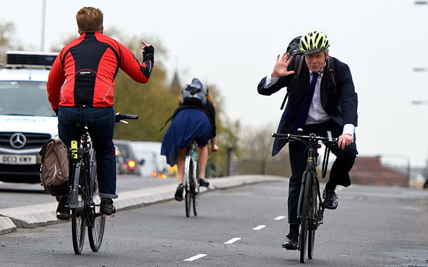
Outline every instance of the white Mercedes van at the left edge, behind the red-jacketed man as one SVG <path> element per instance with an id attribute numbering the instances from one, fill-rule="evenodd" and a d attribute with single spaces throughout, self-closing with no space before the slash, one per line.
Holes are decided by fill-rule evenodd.
<path id="1" fill-rule="evenodd" d="M 7 52 L 0 69 L 0 181 L 39 183 L 41 146 L 58 137 L 46 81 L 53 52 Z"/>

